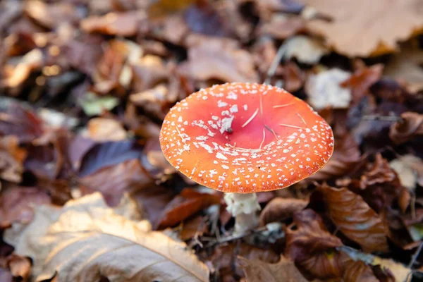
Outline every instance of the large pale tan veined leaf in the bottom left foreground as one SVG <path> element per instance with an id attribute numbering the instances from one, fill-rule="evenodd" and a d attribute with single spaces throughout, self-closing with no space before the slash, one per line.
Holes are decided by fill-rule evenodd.
<path id="1" fill-rule="evenodd" d="M 127 209 L 130 209 L 129 207 Z M 15 231 L 16 232 L 16 231 Z M 33 259 L 35 281 L 209 281 L 209 271 L 185 243 L 150 230 L 147 221 L 125 219 L 99 193 L 59 209 L 38 207 L 35 219 L 5 238 L 18 255 Z M 130 255 L 128 255 L 130 254 Z"/>

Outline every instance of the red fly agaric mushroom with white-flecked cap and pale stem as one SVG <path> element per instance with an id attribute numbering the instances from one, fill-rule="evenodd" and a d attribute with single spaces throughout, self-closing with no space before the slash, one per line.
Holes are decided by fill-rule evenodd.
<path id="1" fill-rule="evenodd" d="M 160 132 L 166 159 L 201 185 L 226 192 L 235 233 L 257 226 L 255 192 L 286 188 L 319 171 L 331 127 L 301 99 L 271 85 L 226 83 L 191 94 Z"/>

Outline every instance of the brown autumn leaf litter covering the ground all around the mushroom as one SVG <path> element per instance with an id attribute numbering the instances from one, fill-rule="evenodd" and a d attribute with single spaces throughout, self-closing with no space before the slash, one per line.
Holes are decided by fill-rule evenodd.
<path id="1" fill-rule="evenodd" d="M 423 9 L 387 2 L 1 1 L 0 280 L 422 279 Z M 264 81 L 335 150 L 234 236 L 159 130 L 192 92 Z"/>

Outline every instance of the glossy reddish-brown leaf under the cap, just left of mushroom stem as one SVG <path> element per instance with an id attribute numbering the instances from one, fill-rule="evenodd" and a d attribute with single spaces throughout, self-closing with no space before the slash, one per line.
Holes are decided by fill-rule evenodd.
<path id="1" fill-rule="evenodd" d="M 185 188 L 161 212 L 159 221 L 155 224 L 156 229 L 176 226 L 176 224 L 188 219 L 200 210 L 212 204 L 220 204 L 220 201 L 221 198 L 217 195 Z"/>

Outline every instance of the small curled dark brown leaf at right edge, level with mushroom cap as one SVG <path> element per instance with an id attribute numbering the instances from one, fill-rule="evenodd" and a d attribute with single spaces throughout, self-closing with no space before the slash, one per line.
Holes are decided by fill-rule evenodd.
<path id="1" fill-rule="evenodd" d="M 416 135 L 423 135 L 423 114 L 407 111 L 401 114 L 401 121 L 391 125 L 389 137 L 396 144 L 412 140 Z"/>

